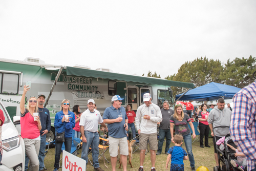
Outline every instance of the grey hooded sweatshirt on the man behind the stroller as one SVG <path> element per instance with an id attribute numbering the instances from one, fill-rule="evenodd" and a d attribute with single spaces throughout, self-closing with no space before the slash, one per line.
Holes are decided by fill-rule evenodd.
<path id="1" fill-rule="evenodd" d="M 229 126 L 232 112 L 226 108 L 220 110 L 218 106 L 215 106 L 210 111 L 208 117 L 208 123 L 212 124 L 212 129 L 216 126 Z M 229 127 L 218 127 L 214 129 L 214 134 L 217 137 L 224 137 L 229 134 Z"/>

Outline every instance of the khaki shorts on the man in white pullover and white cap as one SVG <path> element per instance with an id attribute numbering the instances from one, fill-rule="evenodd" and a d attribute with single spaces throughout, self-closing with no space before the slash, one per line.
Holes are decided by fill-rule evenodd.
<path id="1" fill-rule="evenodd" d="M 153 133 L 153 134 L 140 133 L 140 149 L 146 149 L 147 140 L 150 143 L 150 149 L 157 150 L 157 133 Z"/>

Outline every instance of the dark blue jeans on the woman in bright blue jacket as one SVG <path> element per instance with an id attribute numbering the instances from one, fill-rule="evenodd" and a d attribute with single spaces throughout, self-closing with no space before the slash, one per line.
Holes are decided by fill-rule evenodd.
<path id="1" fill-rule="evenodd" d="M 55 139 L 55 142 L 56 142 L 56 139 Z M 65 142 L 55 143 L 54 168 L 57 168 L 57 169 L 59 169 L 59 159 L 60 159 L 60 154 L 61 154 L 61 146 L 63 143 L 65 144 L 65 151 L 70 153 L 71 145 L 72 145 L 72 137 L 65 138 Z"/>

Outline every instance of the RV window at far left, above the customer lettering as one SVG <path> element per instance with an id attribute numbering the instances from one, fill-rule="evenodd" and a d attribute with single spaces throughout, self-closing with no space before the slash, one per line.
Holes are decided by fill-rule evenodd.
<path id="1" fill-rule="evenodd" d="M 0 94 L 18 94 L 19 75 L 2 73 L 0 75 Z M 2 82 L 3 81 L 3 82 Z"/>

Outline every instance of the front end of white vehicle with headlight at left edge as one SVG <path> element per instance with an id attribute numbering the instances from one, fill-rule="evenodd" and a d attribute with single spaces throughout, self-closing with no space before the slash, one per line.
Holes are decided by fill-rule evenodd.
<path id="1" fill-rule="evenodd" d="M 23 138 L 18 134 L 15 125 L 1 102 L 0 109 L 5 116 L 5 122 L 2 126 L 3 158 L 0 171 L 24 171 L 25 144 Z"/>

